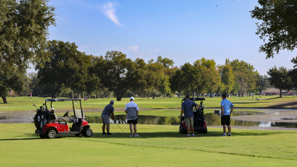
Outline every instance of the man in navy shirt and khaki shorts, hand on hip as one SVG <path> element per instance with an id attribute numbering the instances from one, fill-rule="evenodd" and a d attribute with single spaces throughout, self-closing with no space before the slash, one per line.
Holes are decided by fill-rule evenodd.
<path id="1" fill-rule="evenodd" d="M 189 100 L 190 95 L 186 95 L 185 96 L 186 100 L 181 104 L 181 116 L 180 118 L 182 118 L 182 115 L 184 113 L 184 118 L 185 118 L 185 124 L 187 126 L 187 137 L 190 137 L 190 130 L 192 131 L 192 137 L 195 137 L 194 135 L 194 114 L 193 112 L 196 111 L 196 109 L 198 108 L 198 104 L 196 104 L 195 102 Z M 192 110 L 194 108 L 194 110 Z"/>

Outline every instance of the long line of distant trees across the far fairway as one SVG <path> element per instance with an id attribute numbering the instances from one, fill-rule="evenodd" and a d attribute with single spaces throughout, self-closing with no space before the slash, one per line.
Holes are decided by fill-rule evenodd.
<path id="1" fill-rule="evenodd" d="M 265 90 L 267 76 L 257 73 L 255 68 L 238 59 L 225 64 L 216 64 L 214 59 L 201 58 L 180 67 L 159 56 L 157 60 L 131 60 L 119 51 L 109 51 L 103 56 L 86 55 L 78 51 L 75 43 L 48 41 L 45 47 L 47 60 L 37 63 L 37 73 L 29 73 L 24 89 L 19 95 L 34 92 L 40 97 L 89 98 L 156 96 L 172 97 L 191 94 L 255 93 Z"/>

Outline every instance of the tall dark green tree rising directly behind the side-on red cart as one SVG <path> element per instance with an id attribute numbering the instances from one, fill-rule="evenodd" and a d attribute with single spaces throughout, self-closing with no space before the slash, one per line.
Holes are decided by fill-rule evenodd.
<path id="1" fill-rule="evenodd" d="M 72 90 L 85 90 L 90 56 L 77 50 L 75 43 L 48 41 L 47 51 L 50 60 L 37 64 L 39 82 L 53 87 L 51 95 L 56 98 L 57 92 L 64 84 Z"/>

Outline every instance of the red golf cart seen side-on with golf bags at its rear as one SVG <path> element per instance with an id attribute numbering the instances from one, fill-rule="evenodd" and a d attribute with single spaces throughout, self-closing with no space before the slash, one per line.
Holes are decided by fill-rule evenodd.
<path id="1" fill-rule="evenodd" d="M 68 118 L 73 122 L 72 127 L 68 127 L 68 123 L 59 118 L 57 120 L 56 114 L 54 114 L 53 102 L 63 102 L 72 101 L 72 108 L 74 113 L 74 119 L 68 116 L 69 111 L 67 111 L 63 117 L 68 116 Z M 80 109 L 75 109 L 74 104 L 80 103 Z M 46 102 L 50 102 L 51 111 L 48 110 Z M 35 104 L 33 106 L 36 106 Z M 37 109 L 37 107 L 36 107 Z M 36 115 L 34 117 L 34 124 L 37 128 L 35 130 L 36 134 L 39 134 L 41 138 L 55 138 L 56 134 L 75 134 L 75 136 L 85 136 L 91 137 L 93 135 L 92 130 L 86 120 L 85 114 L 81 108 L 81 99 L 45 99 L 40 108 L 37 109 Z"/>

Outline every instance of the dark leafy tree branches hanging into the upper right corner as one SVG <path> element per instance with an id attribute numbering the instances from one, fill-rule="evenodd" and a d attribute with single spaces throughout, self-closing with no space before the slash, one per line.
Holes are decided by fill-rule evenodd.
<path id="1" fill-rule="evenodd" d="M 260 7 L 250 11 L 251 17 L 261 21 L 257 24 L 256 34 L 264 45 L 260 52 L 266 53 L 266 59 L 279 50 L 293 51 L 297 47 L 297 1 L 296 0 L 258 0 Z"/>

